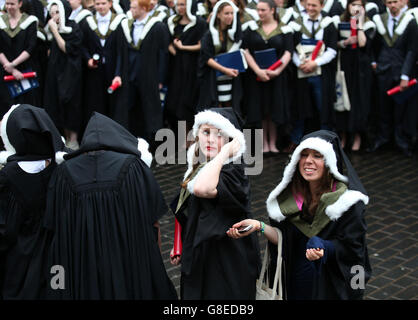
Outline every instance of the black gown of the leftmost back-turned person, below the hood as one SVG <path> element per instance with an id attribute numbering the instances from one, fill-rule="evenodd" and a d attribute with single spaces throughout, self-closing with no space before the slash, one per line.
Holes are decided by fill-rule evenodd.
<path id="1" fill-rule="evenodd" d="M 43 228 L 53 162 L 26 173 L 16 161 L 0 171 L 0 298 L 45 298 L 50 238 Z"/>

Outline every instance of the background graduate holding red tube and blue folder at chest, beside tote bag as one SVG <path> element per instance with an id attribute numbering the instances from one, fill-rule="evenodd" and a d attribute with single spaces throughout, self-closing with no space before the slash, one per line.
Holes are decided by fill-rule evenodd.
<path id="1" fill-rule="evenodd" d="M 360 12 L 356 13 L 356 10 Z M 360 149 L 361 136 L 367 132 L 371 105 L 371 48 L 376 26 L 365 13 L 365 1 L 349 0 L 344 14 L 333 17 L 339 32 L 338 59 L 345 74 L 351 107 L 350 111 L 336 112 L 336 127 L 343 148 L 350 144 L 352 151 Z M 350 19 L 355 16 L 358 16 L 354 18 L 357 35 L 351 36 Z M 350 143 L 350 140 L 353 142 Z"/>

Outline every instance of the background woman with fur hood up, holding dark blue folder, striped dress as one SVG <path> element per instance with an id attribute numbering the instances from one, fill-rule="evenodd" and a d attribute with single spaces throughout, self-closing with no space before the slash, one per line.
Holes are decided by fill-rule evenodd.
<path id="1" fill-rule="evenodd" d="M 229 0 L 218 1 L 213 8 L 209 31 L 202 38 L 198 82 L 199 110 L 217 106 L 232 106 L 240 113 L 242 88 L 237 68 L 229 68 L 216 62 L 216 56 L 223 53 L 236 55 L 234 63 L 242 62 L 242 42 L 238 8 Z M 240 60 L 240 61 L 238 61 Z"/>

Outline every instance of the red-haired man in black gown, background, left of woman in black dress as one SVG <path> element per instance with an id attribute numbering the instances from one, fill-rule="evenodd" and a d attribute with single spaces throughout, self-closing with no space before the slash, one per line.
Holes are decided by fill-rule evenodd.
<path id="1" fill-rule="evenodd" d="M 122 26 L 128 41 L 130 131 L 154 149 L 155 133 L 163 127 L 160 92 L 168 59 L 167 26 L 159 17 L 149 17 L 149 0 L 131 2 L 132 19 Z"/>

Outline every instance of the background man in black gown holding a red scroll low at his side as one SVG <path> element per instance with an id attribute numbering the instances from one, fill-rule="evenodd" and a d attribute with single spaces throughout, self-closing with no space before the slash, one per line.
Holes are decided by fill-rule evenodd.
<path id="1" fill-rule="evenodd" d="M 128 127 L 127 94 L 127 44 L 121 21 L 125 15 L 112 11 L 111 0 L 95 0 L 96 13 L 86 18 L 84 29 L 83 63 L 87 66 L 84 86 L 84 123 L 93 111 L 100 112 Z M 93 59 L 97 55 L 97 60 Z M 121 86 L 108 93 L 108 88 Z"/>

